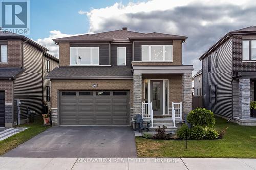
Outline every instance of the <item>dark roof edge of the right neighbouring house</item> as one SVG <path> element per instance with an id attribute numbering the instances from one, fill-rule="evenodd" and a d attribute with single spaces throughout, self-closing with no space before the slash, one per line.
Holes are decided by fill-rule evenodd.
<path id="1" fill-rule="evenodd" d="M 207 50 L 201 57 L 199 57 L 199 60 L 204 59 L 207 55 L 209 55 L 212 51 L 214 51 L 216 48 L 218 48 L 220 45 L 226 42 L 229 38 L 231 38 L 232 35 L 235 35 L 235 34 L 256 34 L 256 26 L 245 27 L 239 30 L 228 32 L 218 42 L 212 45 L 209 48 L 209 50 Z"/>

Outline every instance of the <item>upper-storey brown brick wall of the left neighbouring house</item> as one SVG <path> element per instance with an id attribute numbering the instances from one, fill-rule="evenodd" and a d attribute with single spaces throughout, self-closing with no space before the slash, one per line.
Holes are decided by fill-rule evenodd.
<path id="1" fill-rule="evenodd" d="M 22 67 L 22 41 L 8 40 L 7 42 L 8 63 L 1 64 L 2 67 L 21 68 Z"/>

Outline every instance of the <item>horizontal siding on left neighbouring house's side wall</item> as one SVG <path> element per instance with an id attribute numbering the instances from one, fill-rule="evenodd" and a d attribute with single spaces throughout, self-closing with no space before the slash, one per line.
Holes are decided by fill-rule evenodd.
<path id="1" fill-rule="evenodd" d="M 27 109 L 42 113 L 42 52 L 28 43 L 23 44 L 23 62 L 26 69 L 14 81 L 14 119 L 17 120 L 16 100 L 22 102 L 20 119 L 26 118 Z"/>

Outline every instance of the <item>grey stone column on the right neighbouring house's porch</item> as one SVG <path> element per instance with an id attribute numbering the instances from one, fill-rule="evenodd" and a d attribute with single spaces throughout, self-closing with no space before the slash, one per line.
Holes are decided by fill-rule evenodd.
<path id="1" fill-rule="evenodd" d="M 239 80 L 239 105 L 241 119 L 250 119 L 250 90 L 251 90 L 250 79 Z"/>

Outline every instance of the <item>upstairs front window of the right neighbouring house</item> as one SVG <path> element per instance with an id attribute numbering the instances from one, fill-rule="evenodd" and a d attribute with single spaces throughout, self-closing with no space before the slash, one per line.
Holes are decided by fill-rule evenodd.
<path id="1" fill-rule="evenodd" d="M 242 46 L 243 60 L 256 60 L 256 40 L 244 40 Z"/>

